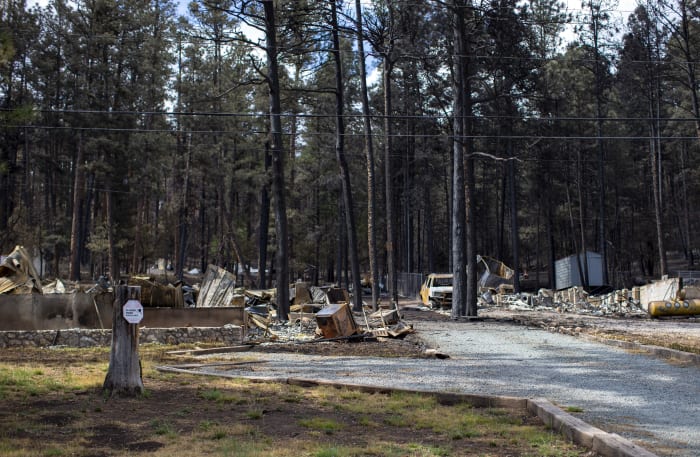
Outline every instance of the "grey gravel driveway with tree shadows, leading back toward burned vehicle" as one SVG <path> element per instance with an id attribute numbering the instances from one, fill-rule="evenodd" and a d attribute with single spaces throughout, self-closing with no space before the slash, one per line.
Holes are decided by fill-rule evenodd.
<path id="1" fill-rule="evenodd" d="M 415 329 L 449 359 L 255 353 L 237 376 L 544 397 L 660 456 L 700 456 L 700 368 L 573 336 L 495 321 L 425 321 Z M 245 357 L 250 357 L 247 353 Z M 231 357 L 243 357 L 240 353 Z"/>

